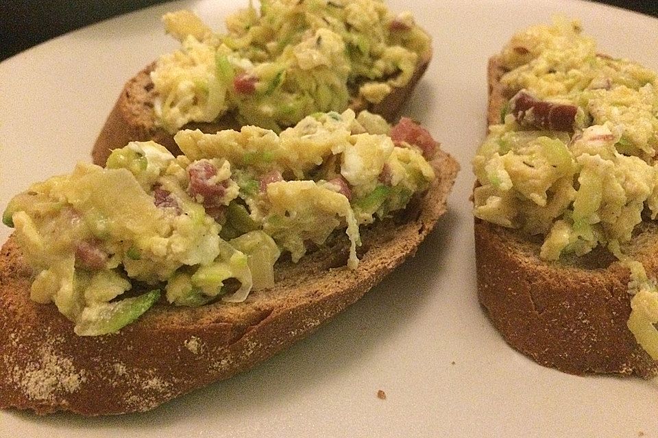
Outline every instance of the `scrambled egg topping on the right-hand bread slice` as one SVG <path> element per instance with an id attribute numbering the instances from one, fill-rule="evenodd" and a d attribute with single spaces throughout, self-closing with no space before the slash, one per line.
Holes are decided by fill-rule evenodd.
<path id="1" fill-rule="evenodd" d="M 500 62 L 513 97 L 473 160 L 475 216 L 544 235 L 545 260 L 606 245 L 631 268 L 629 328 L 658 359 L 658 290 L 622 251 L 658 215 L 658 76 L 563 19 L 513 36 Z"/>

